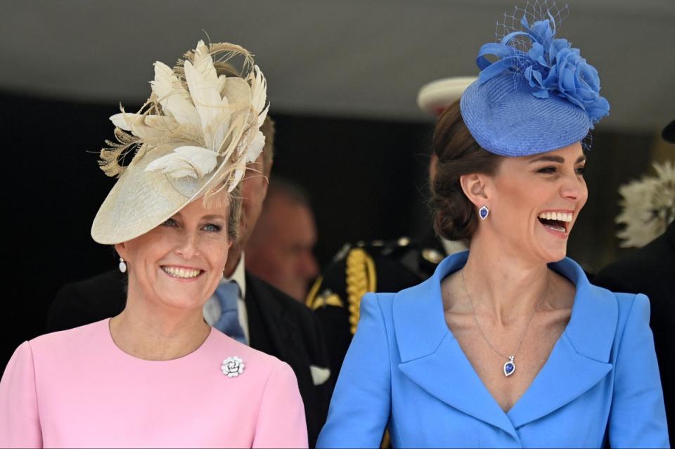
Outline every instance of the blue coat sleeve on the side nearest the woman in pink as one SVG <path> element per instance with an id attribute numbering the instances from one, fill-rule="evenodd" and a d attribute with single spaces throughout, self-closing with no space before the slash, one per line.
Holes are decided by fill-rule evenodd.
<path id="1" fill-rule="evenodd" d="M 391 409 L 391 362 L 377 294 L 361 301 L 361 318 L 335 385 L 318 448 L 379 448 Z"/>

